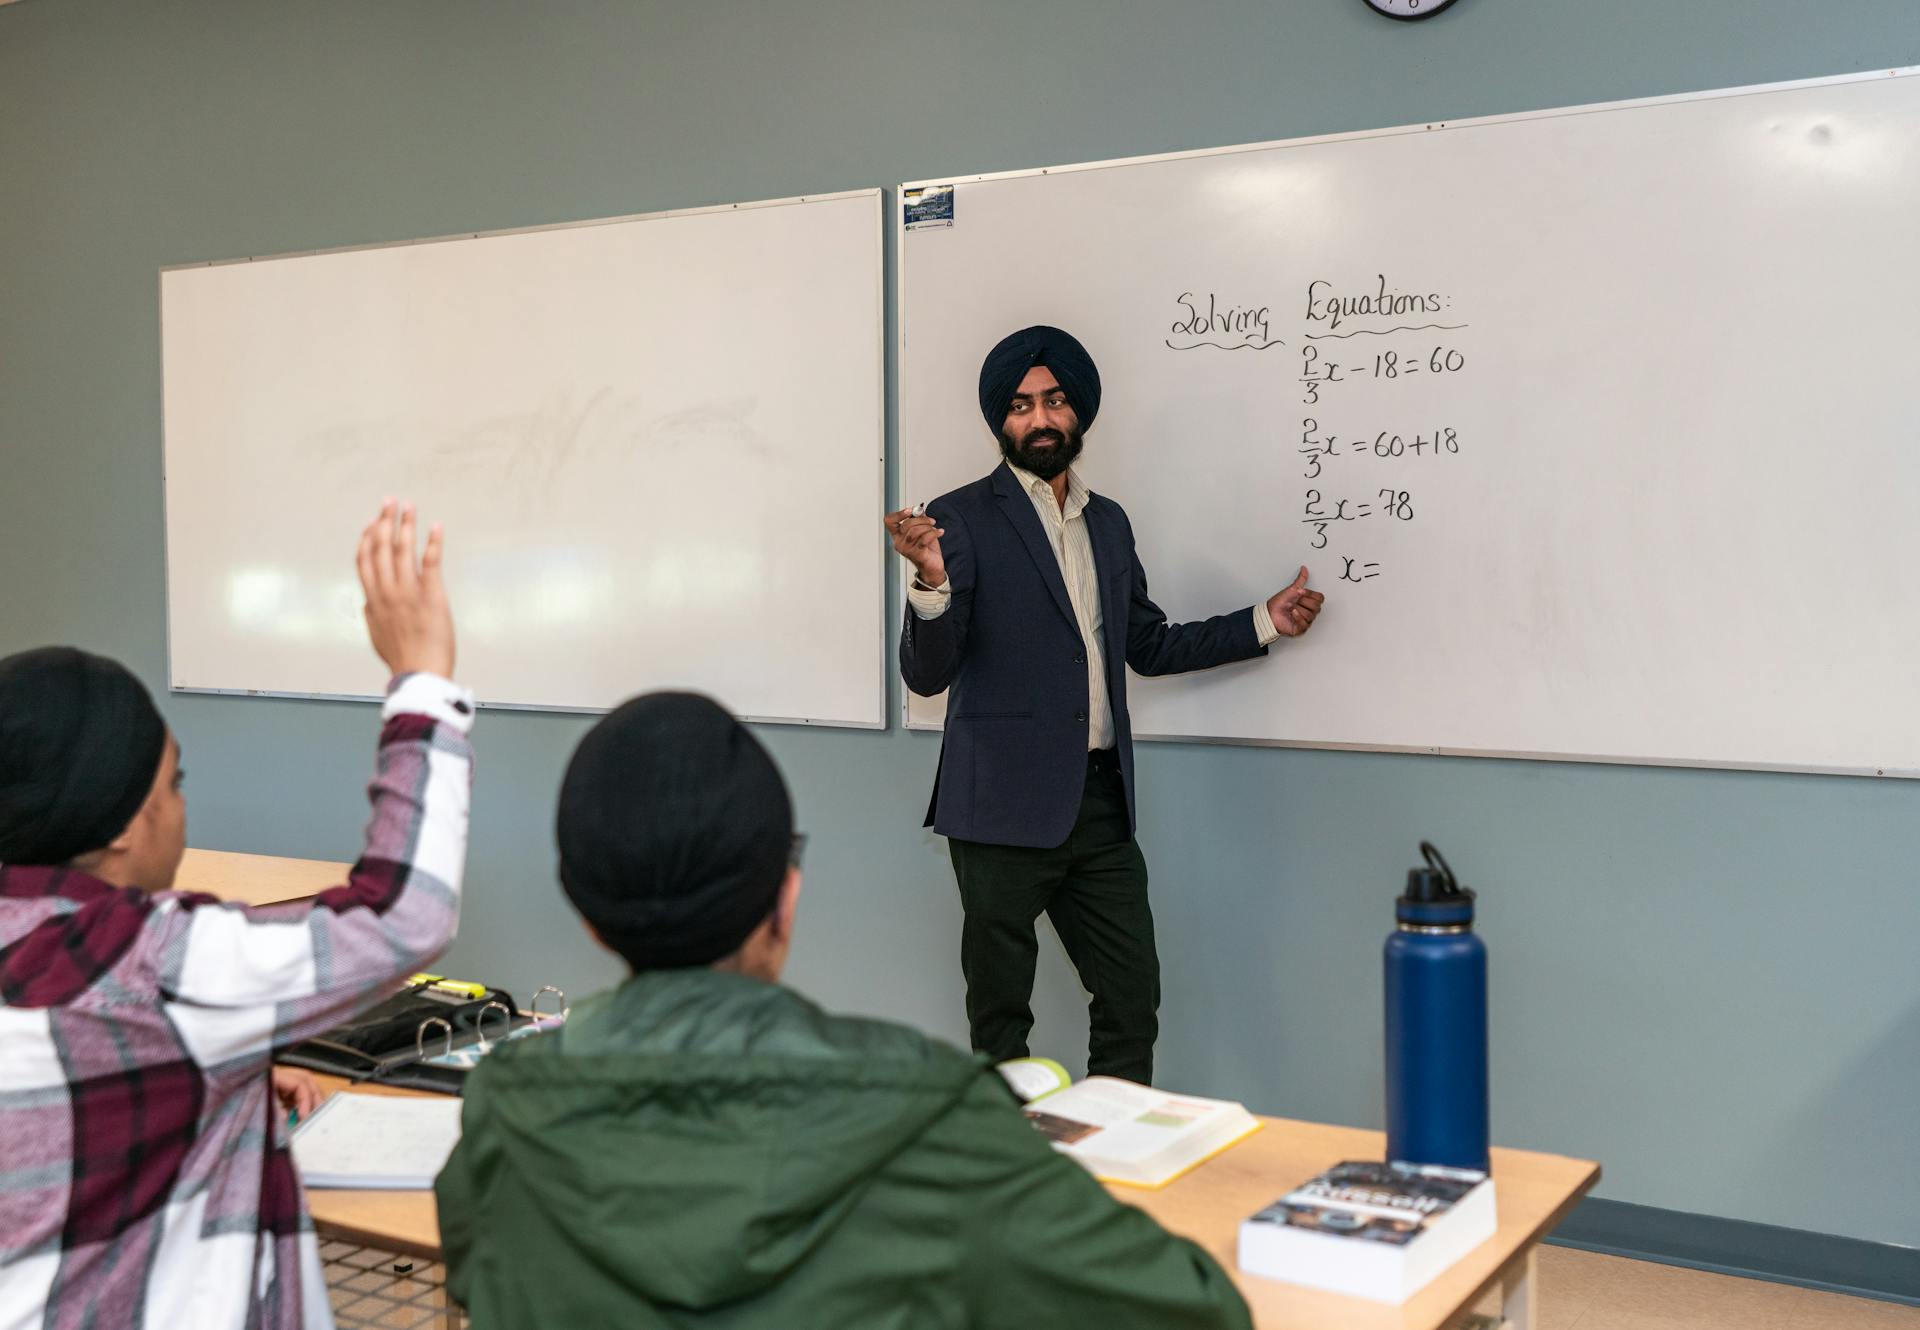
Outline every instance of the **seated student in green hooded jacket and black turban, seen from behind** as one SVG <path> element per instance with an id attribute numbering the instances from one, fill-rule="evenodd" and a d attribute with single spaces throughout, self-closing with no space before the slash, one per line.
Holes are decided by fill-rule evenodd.
<path id="1" fill-rule="evenodd" d="M 793 806 L 714 702 L 655 693 L 595 725 L 559 846 L 634 973 L 472 1073 L 436 1192 L 474 1330 L 1250 1324 L 987 1063 L 778 983 Z"/>

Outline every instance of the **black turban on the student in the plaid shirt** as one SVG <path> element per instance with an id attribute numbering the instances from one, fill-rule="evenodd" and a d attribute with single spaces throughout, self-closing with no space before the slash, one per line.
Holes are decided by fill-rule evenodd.
<path id="1" fill-rule="evenodd" d="M 73 647 L 0 660 L 0 864 L 67 864 L 140 812 L 167 724 L 127 666 Z"/>

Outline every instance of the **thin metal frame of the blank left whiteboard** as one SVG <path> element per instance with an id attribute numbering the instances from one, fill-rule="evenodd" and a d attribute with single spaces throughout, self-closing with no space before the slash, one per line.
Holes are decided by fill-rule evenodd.
<path id="1" fill-rule="evenodd" d="M 194 269 L 223 269 L 234 267 L 238 263 L 267 263 L 273 259 L 313 259 L 326 253 L 361 253 L 365 249 L 407 249 L 413 246 L 440 246 L 440 244 L 461 244 L 465 240 L 493 240 L 497 236 L 530 236 L 547 230 L 580 230 L 584 226 L 620 226 L 626 223 L 639 221 L 664 221 L 668 217 L 701 217 L 707 213 L 741 213 L 760 207 L 793 207 L 797 203 L 833 203 L 839 200 L 870 198 L 874 200 L 874 242 L 879 255 L 879 273 L 876 273 L 874 282 L 874 363 L 879 370 L 879 399 L 876 405 L 874 422 L 877 428 L 879 453 L 874 457 L 874 499 L 879 505 L 887 501 L 887 192 L 883 188 L 866 190 L 839 190 L 833 194 L 795 194 L 791 198 L 772 198 L 755 200 L 751 203 L 710 203 L 707 207 L 668 207 L 657 213 L 626 213 L 622 217 L 588 217 L 570 223 L 547 223 L 541 226 L 505 226 L 499 230 L 459 230 L 445 236 L 422 236 L 417 240 L 374 240 L 357 246 L 332 246 L 326 249 L 286 249 L 284 253 L 257 253 L 244 259 L 205 259 L 200 263 L 169 263 L 156 274 L 156 317 L 159 330 L 159 422 L 161 422 L 161 449 L 159 449 L 159 493 L 161 493 L 161 578 L 167 587 L 167 691 L 182 695 L 204 695 L 204 697 L 282 697 L 301 702 L 382 702 L 384 695 L 374 693 L 286 693 L 278 689 L 215 689 L 215 687 L 175 687 L 173 683 L 173 568 L 171 543 L 165 539 L 167 534 L 167 303 L 163 292 L 163 278 L 167 273 L 186 273 Z M 810 716 L 735 716 L 735 720 L 764 724 L 764 725 L 820 725 L 824 729 L 889 729 L 887 720 L 887 666 L 891 658 L 887 654 L 887 566 L 885 557 L 891 551 L 879 551 L 881 572 L 874 585 L 874 595 L 879 599 L 879 720 L 812 720 Z M 545 702 L 486 702 L 476 701 L 474 706 L 490 712 L 553 712 L 561 716 L 605 716 L 607 706 L 555 706 Z"/>

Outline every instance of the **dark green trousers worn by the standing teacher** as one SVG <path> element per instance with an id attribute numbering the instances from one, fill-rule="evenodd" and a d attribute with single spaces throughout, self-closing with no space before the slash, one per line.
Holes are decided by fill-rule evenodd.
<path id="1" fill-rule="evenodd" d="M 1087 1008 L 1087 1071 L 1146 1084 L 1160 1033 L 1160 956 L 1146 902 L 1146 858 L 1127 827 L 1127 791 L 1112 754 L 1087 764 L 1079 819 L 1052 850 L 948 841 L 960 881 L 960 971 L 973 1048 L 995 1061 L 1027 1056 L 1033 963 L 1043 914 L 1068 948 Z"/>

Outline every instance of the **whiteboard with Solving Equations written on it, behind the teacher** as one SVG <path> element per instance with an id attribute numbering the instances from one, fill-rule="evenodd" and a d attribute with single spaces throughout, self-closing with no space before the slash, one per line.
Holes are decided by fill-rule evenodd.
<path id="1" fill-rule="evenodd" d="M 1327 593 L 1142 737 L 1920 775 L 1916 71 L 922 184 L 900 501 L 1052 322 L 1169 618 Z"/>

